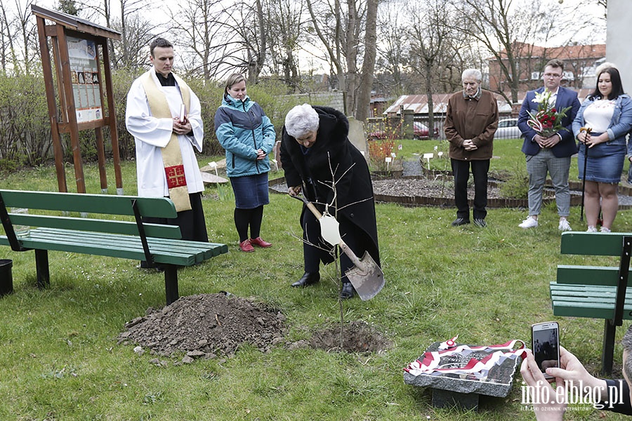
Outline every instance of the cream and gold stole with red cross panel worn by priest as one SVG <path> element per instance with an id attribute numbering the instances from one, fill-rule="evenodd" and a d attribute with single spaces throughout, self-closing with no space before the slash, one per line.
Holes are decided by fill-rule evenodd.
<path id="1" fill-rule="evenodd" d="M 156 85 L 152 77 L 152 72 L 154 72 L 154 69 L 150 69 L 141 79 L 152 116 L 158 119 L 172 119 L 173 116 L 171 116 L 169 103 L 164 93 L 162 93 Z M 185 105 L 185 115 L 187 115 L 191 103 L 189 86 L 187 86 L 185 81 L 180 79 L 180 77 L 175 74 L 173 76 L 176 78 L 176 82 L 178 82 L 182 101 Z M 169 197 L 173 201 L 173 204 L 176 205 L 176 211 L 190 210 L 191 202 L 189 201 L 189 190 L 187 189 L 182 152 L 180 151 L 180 143 L 178 142 L 178 135 L 176 135 L 176 133 L 171 132 L 169 143 L 162 148 L 162 163 L 164 164 L 167 187 L 169 187 Z"/>

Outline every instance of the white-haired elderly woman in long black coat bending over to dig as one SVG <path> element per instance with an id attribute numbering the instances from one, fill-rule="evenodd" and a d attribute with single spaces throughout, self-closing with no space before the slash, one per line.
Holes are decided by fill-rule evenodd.
<path id="1" fill-rule="evenodd" d="M 285 117 L 281 142 L 281 163 L 288 192 L 303 192 L 322 213 L 329 213 L 340 224 L 340 234 L 353 250 L 362 256 L 367 251 L 380 265 L 375 218 L 373 185 L 367 161 L 348 139 L 349 121 L 338 110 L 329 107 L 297 105 Z M 334 196 L 335 183 L 335 196 Z M 305 274 L 292 286 L 310 286 L 320 281 L 320 262 L 334 261 L 331 245 L 320 235 L 320 224 L 303 206 L 303 259 Z M 355 290 L 345 276 L 353 267 L 351 260 L 340 255 L 343 287 L 341 298 L 352 298 Z"/>

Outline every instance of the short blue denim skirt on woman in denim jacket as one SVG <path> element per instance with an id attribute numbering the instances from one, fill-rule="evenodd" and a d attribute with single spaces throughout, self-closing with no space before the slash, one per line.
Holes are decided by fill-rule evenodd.
<path id="1" fill-rule="evenodd" d="M 577 154 L 577 166 L 579 167 L 579 180 L 584 180 L 584 165 L 586 165 L 586 181 L 618 183 L 621 182 L 621 172 L 623 172 L 624 159 L 626 156 L 626 145 L 608 145 L 600 143 L 588 148 L 588 159 L 586 156 L 586 145 L 579 144 Z M 584 163 L 586 161 L 586 163 Z"/>

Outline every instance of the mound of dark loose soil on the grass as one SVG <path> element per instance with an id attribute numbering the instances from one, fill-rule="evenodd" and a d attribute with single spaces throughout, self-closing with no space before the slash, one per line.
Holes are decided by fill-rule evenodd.
<path id="1" fill-rule="evenodd" d="M 264 305 L 225 294 L 181 297 L 162 309 L 126 323 L 119 343 L 140 345 L 152 353 L 213 358 L 231 356 L 239 345 L 250 343 L 262 352 L 283 341 L 285 317 Z"/>

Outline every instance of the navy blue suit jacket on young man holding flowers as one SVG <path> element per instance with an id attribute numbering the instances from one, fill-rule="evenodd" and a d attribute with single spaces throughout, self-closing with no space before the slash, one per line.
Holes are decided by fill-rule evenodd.
<path id="1" fill-rule="evenodd" d="M 522 101 L 522 107 L 520 107 L 520 114 L 518 115 L 518 128 L 520 128 L 522 134 L 525 135 L 525 142 L 522 143 L 522 152 L 526 155 L 537 155 L 541 149 L 540 145 L 533 141 L 533 137 L 536 135 L 536 132 L 527 124 L 527 120 L 530 118 L 527 111 L 535 114 L 538 110 L 538 104 L 533 102 L 536 92 L 544 92 L 544 86 L 536 89 L 535 91 L 527 92 L 525 100 Z M 558 131 L 558 135 L 561 136 L 562 140 L 552 149 L 553 155 L 558 158 L 577 154 L 577 145 L 575 145 L 572 124 L 575 119 L 575 115 L 579 110 L 579 105 L 577 92 L 568 88 L 562 88 L 562 86 L 558 88 L 558 97 L 555 100 L 555 108 L 562 109 L 572 107 L 566 112 L 566 116 L 562 119 L 562 126 L 567 128 L 567 130 L 562 129 Z"/>

